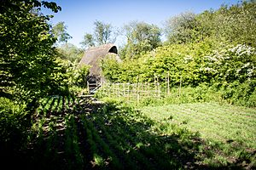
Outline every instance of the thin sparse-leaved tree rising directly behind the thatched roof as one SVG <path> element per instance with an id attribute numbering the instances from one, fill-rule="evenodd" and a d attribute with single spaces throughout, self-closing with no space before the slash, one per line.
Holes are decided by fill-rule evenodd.
<path id="1" fill-rule="evenodd" d="M 113 30 L 111 24 L 96 20 L 94 25 L 94 33 L 85 33 L 84 40 L 80 42 L 84 48 L 115 42 L 117 31 Z"/>

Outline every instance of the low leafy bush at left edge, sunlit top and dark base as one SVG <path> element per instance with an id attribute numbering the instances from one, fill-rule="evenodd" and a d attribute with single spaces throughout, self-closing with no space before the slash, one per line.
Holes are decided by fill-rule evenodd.
<path id="1" fill-rule="evenodd" d="M 0 98 L 0 156 L 20 150 L 26 141 L 26 129 L 30 126 L 26 105 Z M 9 153 L 9 154 L 11 154 Z"/>

